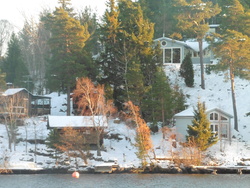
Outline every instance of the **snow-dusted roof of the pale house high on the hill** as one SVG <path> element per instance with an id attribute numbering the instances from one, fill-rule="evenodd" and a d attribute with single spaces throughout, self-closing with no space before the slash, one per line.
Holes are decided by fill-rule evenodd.
<path id="1" fill-rule="evenodd" d="M 154 41 L 162 41 L 162 40 L 167 40 L 170 42 L 175 42 L 177 44 L 183 45 L 187 48 L 191 48 L 192 50 L 199 52 L 199 43 L 196 40 L 187 40 L 187 41 L 180 41 L 180 40 L 175 40 L 175 39 L 171 39 L 168 37 L 160 37 L 158 39 L 155 39 Z M 206 41 L 203 41 L 203 45 L 202 45 L 202 50 L 206 49 L 209 47 L 209 43 Z"/>

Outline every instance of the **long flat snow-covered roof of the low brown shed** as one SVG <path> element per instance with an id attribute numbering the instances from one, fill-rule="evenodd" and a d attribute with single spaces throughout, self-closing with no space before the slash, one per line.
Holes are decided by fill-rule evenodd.
<path id="1" fill-rule="evenodd" d="M 48 116 L 49 128 L 108 127 L 105 116 Z"/>

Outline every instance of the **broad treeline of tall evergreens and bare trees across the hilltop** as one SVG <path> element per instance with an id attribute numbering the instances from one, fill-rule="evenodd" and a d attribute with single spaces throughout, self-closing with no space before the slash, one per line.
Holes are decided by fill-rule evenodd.
<path id="1" fill-rule="evenodd" d="M 220 38 L 228 29 L 246 37 L 250 31 L 245 0 L 107 0 L 106 6 L 98 20 L 90 8 L 75 12 L 70 0 L 59 0 L 54 10 L 40 13 L 39 23 L 26 20 L 1 54 L 2 89 L 6 82 L 37 94 L 65 92 L 69 106 L 76 79 L 88 77 L 105 84 L 106 98 L 118 109 L 132 101 L 146 121 L 168 124 L 184 109 L 185 97 L 178 86 L 169 84 L 154 39 L 165 34 L 202 42 L 208 24 L 221 24 Z M 192 15 L 196 16 L 188 19 Z"/>

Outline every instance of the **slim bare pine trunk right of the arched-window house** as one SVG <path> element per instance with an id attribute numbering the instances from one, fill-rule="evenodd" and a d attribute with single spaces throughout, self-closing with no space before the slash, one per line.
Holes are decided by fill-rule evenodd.
<path id="1" fill-rule="evenodd" d="M 234 72 L 232 62 L 230 63 L 230 81 L 231 81 L 231 92 L 232 92 L 232 102 L 233 102 L 233 111 L 234 111 L 234 129 L 238 130 L 238 115 L 236 108 L 236 98 L 235 98 L 235 86 L 234 86 Z"/>

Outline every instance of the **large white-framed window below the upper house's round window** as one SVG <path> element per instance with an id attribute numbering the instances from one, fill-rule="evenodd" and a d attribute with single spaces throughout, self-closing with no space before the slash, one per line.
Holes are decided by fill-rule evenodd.
<path id="1" fill-rule="evenodd" d="M 181 48 L 165 49 L 165 63 L 181 63 Z"/>

